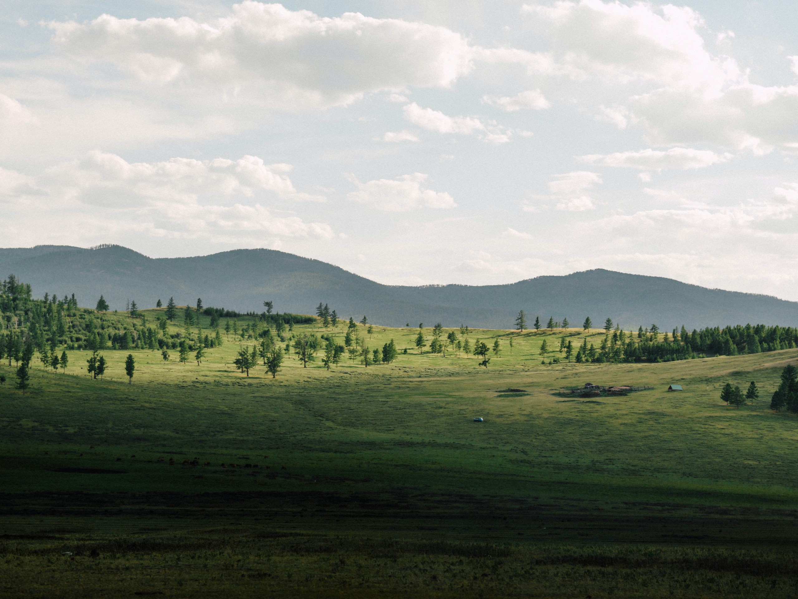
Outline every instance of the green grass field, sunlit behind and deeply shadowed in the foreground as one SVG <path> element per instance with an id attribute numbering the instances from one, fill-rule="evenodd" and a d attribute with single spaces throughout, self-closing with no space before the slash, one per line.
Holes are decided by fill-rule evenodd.
<path id="1" fill-rule="evenodd" d="M 798 418 L 768 407 L 798 350 L 542 365 L 543 339 L 604 332 L 470 331 L 500 339 L 485 369 L 419 354 L 414 327 L 359 330 L 408 353 L 247 377 L 231 337 L 201 365 L 103 351 L 93 380 L 70 351 L 25 395 L 4 363 L 0 595 L 798 594 Z M 721 402 L 751 380 L 759 401 Z M 654 389 L 563 392 L 587 382 Z"/>

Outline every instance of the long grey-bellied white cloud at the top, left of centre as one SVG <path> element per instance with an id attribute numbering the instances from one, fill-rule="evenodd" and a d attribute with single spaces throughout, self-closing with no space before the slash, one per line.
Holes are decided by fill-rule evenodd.
<path id="1" fill-rule="evenodd" d="M 59 50 L 110 63 L 148 84 L 254 85 L 285 107 L 346 105 L 365 93 L 448 87 L 472 68 L 468 42 L 445 27 L 359 13 L 322 18 L 241 2 L 211 22 L 192 18 L 49 22 Z"/>

